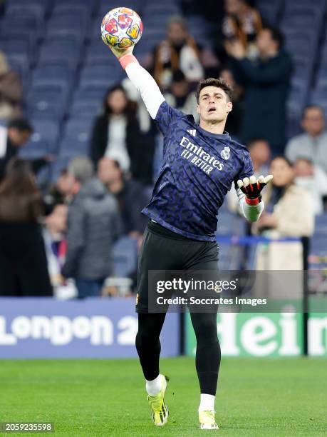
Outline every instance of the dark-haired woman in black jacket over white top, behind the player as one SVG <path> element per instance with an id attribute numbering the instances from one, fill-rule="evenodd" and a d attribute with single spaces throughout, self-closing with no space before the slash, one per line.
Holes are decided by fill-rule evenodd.
<path id="1" fill-rule="evenodd" d="M 122 86 L 105 94 L 103 114 L 95 119 L 90 144 L 94 166 L 103 156 L 119 162 L 135 179 L 152 181 L 154 147 L 142 136 L 136 117 L 136 104 Z"/>

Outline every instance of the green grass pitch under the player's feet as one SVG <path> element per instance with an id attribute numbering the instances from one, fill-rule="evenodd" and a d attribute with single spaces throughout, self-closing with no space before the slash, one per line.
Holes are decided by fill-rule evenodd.
<path id="1" fill-rule="evenodd" d="M 326 436 L 326 369 L 323 358 L 224 358 L 220 429 L 200 431 L 193 358 L 162 359 L 170 376 L 163 428 L 150 421 L 137 360 L 4 360 L 0 421 L 53 422 L 56 436 Z"/>

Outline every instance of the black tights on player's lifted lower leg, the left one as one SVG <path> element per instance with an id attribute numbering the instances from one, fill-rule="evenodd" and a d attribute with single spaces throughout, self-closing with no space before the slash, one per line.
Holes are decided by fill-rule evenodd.
<path id="1" fill-rule="evenodd" d="M 139 313 L 135 345 L 145 379 L 152 381 L 159 375 L 160 332 L 165 313 Z"/>

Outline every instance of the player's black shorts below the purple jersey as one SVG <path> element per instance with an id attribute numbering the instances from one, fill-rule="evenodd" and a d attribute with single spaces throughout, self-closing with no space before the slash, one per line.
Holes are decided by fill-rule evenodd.
<path id="1" fill-rule="evenodd" d="M 192 240 L 154 221 L 149 221 L 138 261 L 136 312 L 148 312 L 147 277 L 149 270 L 217 269 L 218 244 L 216 241 Z"/>

